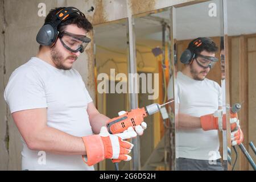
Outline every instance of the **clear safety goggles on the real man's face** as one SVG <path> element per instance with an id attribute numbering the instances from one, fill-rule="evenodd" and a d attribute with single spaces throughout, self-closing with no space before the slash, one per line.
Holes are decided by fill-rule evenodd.
<path id="1" fill-rule="evenodd" d="M 59 33 L 59 38 L 63 46 L 71 52 L 84 52 L 90 42 L 90 38 L 85 35 L 76 35 L 65 31 Z"/>

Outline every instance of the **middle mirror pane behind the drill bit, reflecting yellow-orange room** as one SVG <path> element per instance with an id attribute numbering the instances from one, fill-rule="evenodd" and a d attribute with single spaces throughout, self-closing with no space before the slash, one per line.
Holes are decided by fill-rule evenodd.
<path id="1" fill-rule="evenodd" d="M 167 102 L 167 84 L 170 78 L 170 9 L 158 10 L 150 14 L 134 16 L 135 49 L 137 72 L 139 74 L 138 104 L 139 107 L 153 103 Z M 143 92 L 143 75 L 147 84 L 152 85 L 152 92 Z M 152 79 L 150 79 L 152 75 Z M 148 86 L 148 85 L 147 85 Z M 159 88 L 159 90 L 158 90 Z M 164 107 L 164 109 L 166 109 Z M 166 113 L 167 114 L 167 113 Z M 141 137 L 141 169 L 142 170 L 173 170 L 175 146 L 171 135 L 173 116 L 155 113 L 144 119 L 147 131 Z"/>

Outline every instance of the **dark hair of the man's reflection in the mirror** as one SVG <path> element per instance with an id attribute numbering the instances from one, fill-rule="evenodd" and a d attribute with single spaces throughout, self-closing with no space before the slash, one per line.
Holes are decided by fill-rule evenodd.
<path id="1" fill-rule="evenodd" d="M 194 44 L 196 40 L 201 40 L 202 42 L 201 46 L 196 47 L 196 45 Z M 218 47 L 210 38 L 197 38 L 192 40 L 188 44 L 188 49 L 195 52 L 196 54 L 200 54 L 202 51 L 216 52 L 218 50 Z"/>

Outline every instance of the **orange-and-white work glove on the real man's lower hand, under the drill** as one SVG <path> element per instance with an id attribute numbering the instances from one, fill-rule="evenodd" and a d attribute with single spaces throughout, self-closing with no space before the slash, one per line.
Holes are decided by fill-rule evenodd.
<path id="1" fill-rule="evenodd" d="M 131 152 L 133 144 L 123 139 L 136 137 L 134 130 L 128 130 L 125 133 L 109 134 L 108 129 L 104 126 L 100 134 L 82 137 L 86 149 L 86 156 L 82 156 L 88 166 L 92 166 L 104 159 L 131 160 L 127 155 Z"/>

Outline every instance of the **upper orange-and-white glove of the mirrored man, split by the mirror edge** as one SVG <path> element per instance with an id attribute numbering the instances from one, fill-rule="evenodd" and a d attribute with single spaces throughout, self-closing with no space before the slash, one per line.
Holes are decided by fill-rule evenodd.
<path id="1" fill-rule="evenodd" d="M 201 127 L 203 130 L 226 130 L 226 114 L 222 110 L 217 110 L 213 114 L 202 115 L 200 117 Z M 230 113 L 230 129 L 233 131 L 239 125 L 237 113 Z"/>

